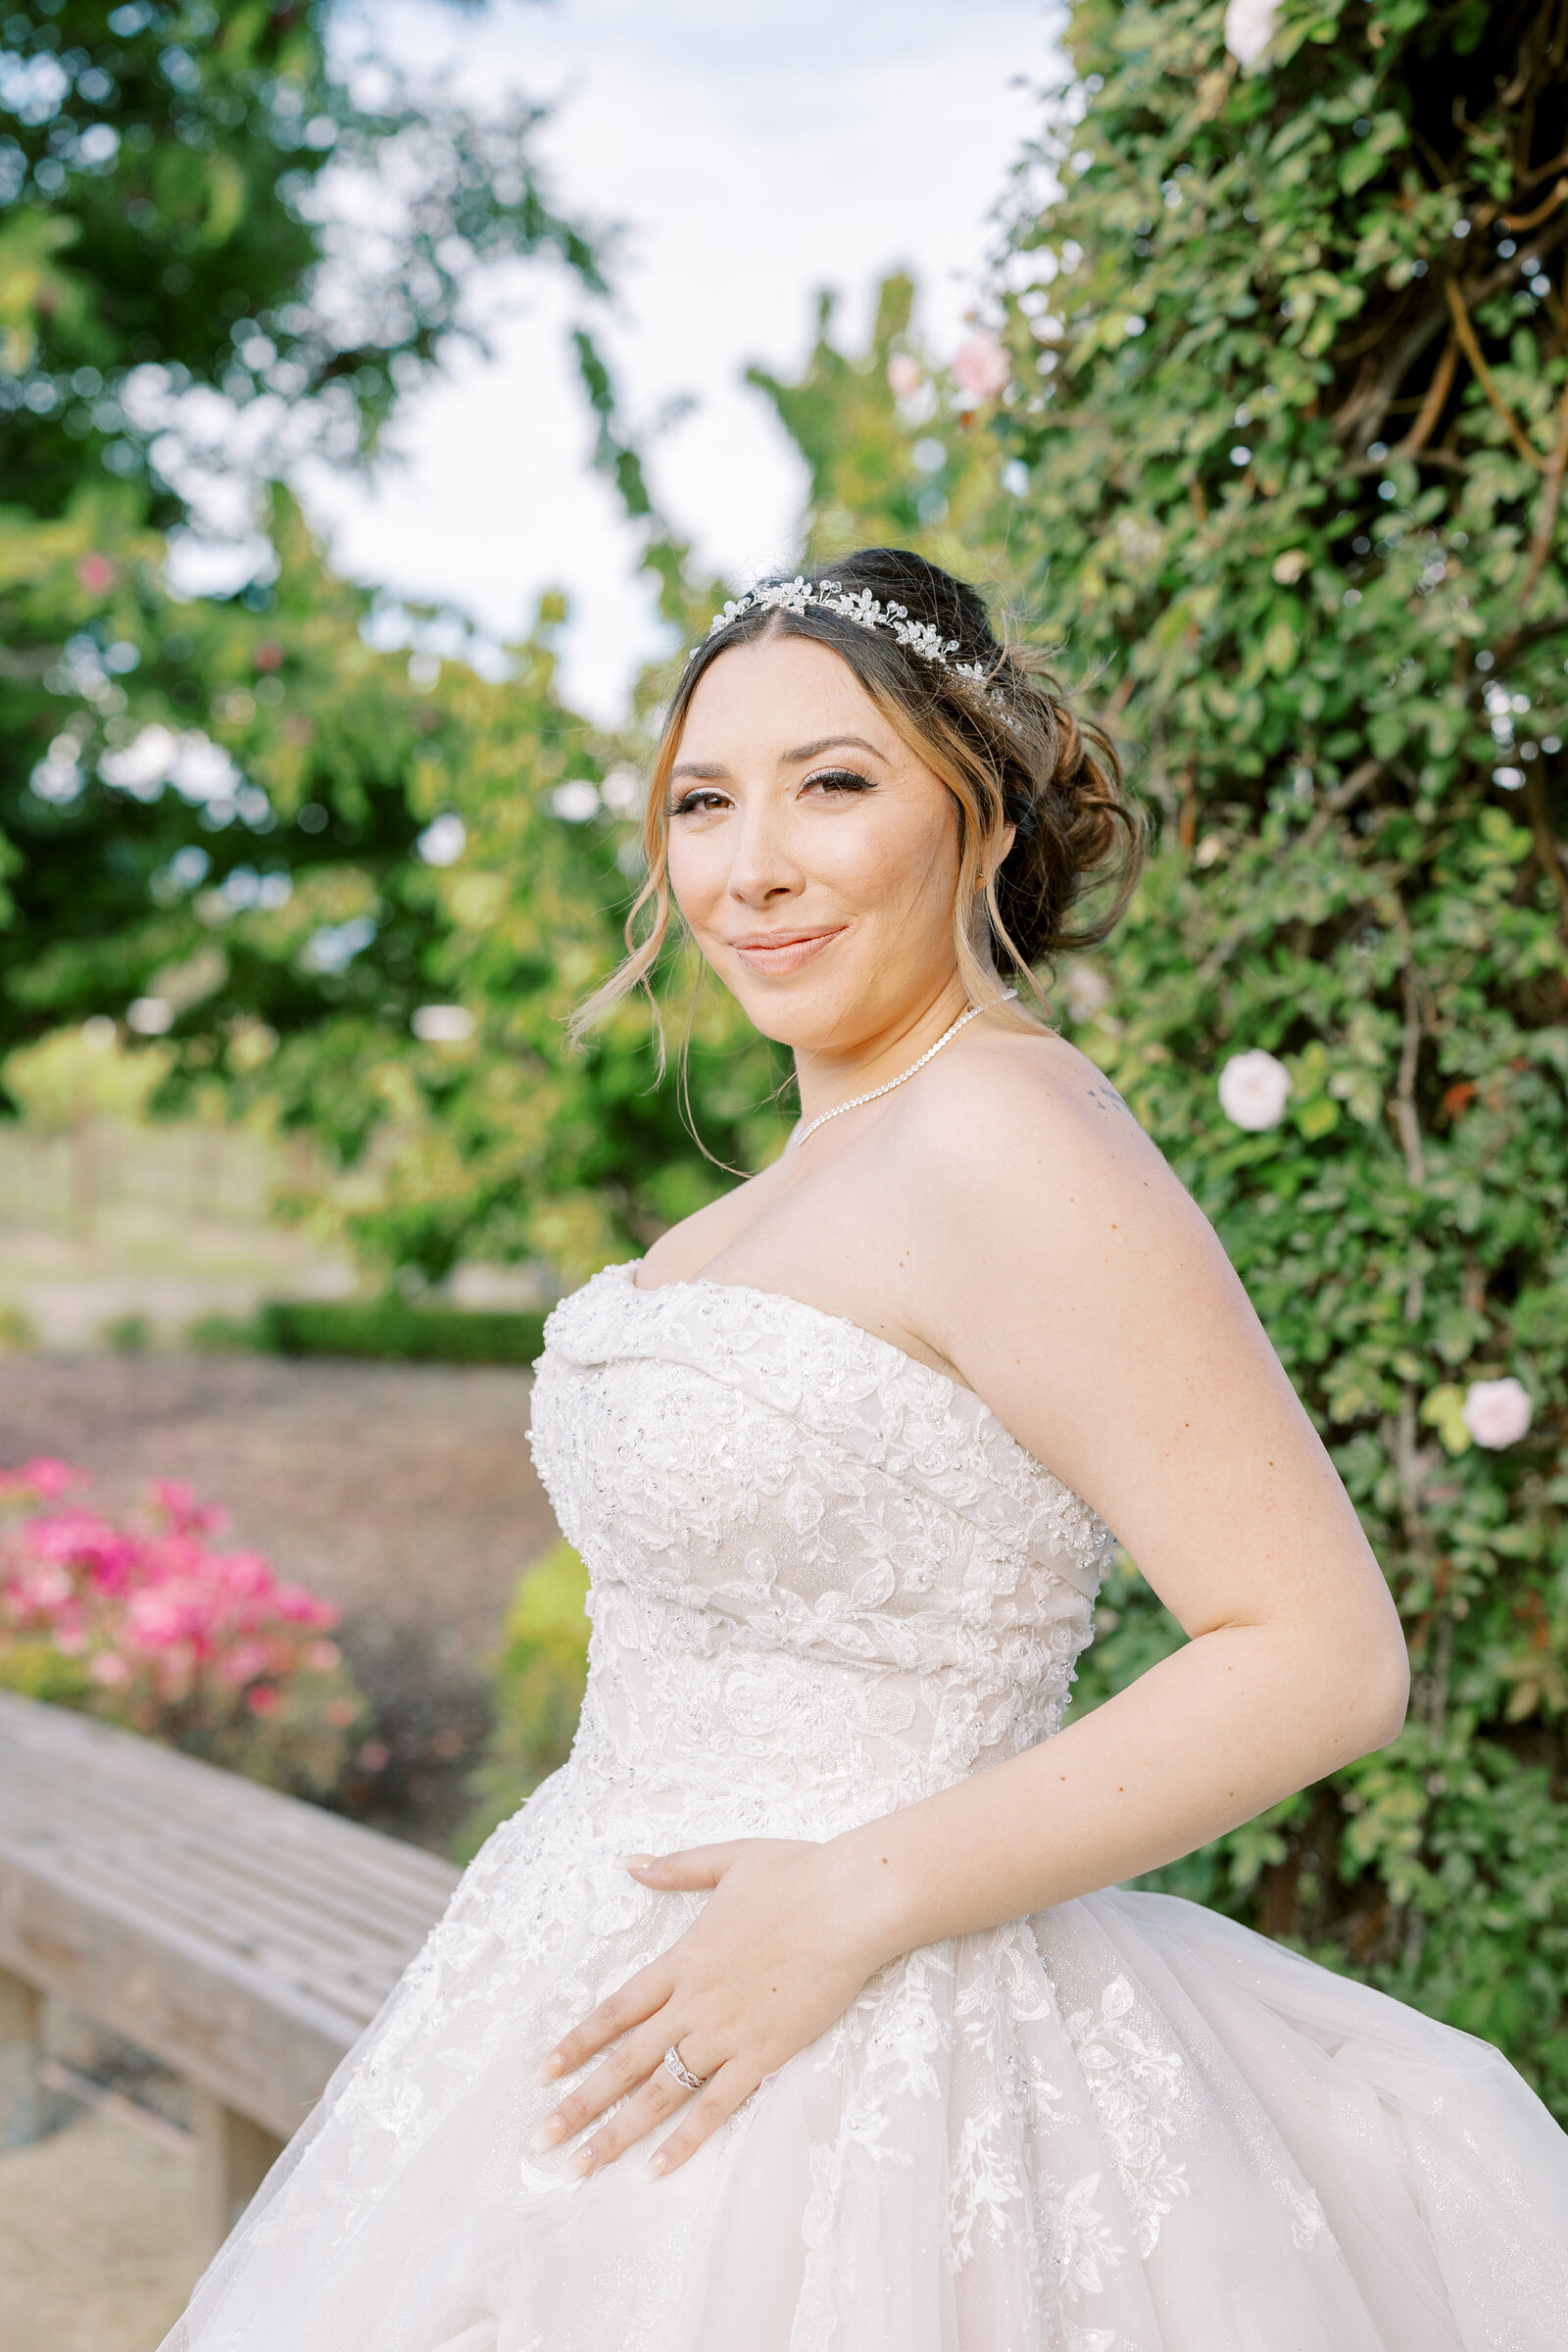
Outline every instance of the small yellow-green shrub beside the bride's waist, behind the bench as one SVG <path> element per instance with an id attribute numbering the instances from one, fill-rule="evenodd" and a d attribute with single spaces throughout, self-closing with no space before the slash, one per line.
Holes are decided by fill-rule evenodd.
<path id="1" fill-rule="evenodd" d="M 494 1661 L 496 1724 L 468 1783 L 458 1860 L 567 1762 L 588 1684 L 585 1597 L 588 1571 L 569 1543 L 552 1543 L 512 1592 Z"/>

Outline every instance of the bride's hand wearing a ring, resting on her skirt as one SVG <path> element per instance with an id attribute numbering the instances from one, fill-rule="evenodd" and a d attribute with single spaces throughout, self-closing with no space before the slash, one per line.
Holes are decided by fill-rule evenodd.
<path id="1" fill-rule="evenodd" d="M 574 2157 L 578 2178 L 602 2171 L 691 2098 L 651 2171 L 684 2164 L 766 2074 L 844 2016 L 889 1957 L 858 1917 L 863 1907 L 832 1846 L 741 1837 L 663 1858 L 635 1853 L 625 1867 L 658 1893 L 710 1886 L 712 1900 L 668 1952 L 599 2002 L 545 2058 L 541 2082 L 555 2082 L 621 2042 L 534 2140 L 559 2147 L 625 2098 Z M 670 2044 L 703 2077 L 701 2091 L 684 2091 L 665 2067 Z"/>

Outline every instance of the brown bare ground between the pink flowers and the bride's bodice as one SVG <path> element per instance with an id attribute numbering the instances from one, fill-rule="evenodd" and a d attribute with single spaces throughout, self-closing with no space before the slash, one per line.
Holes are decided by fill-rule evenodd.
<path id="1" fill-rule="evenodd" d="M 343 1609 L 393 1750 L 371 1818 L 444 1844 L 487 1729 L 482 1661 L 555 1541 L 527 1449 L 529 1374 L 249 1355 L 0 1359 L 0 1465 L 59 1454 L 106 1508 L 181 1477 Z"/>

